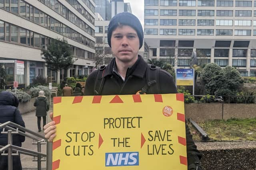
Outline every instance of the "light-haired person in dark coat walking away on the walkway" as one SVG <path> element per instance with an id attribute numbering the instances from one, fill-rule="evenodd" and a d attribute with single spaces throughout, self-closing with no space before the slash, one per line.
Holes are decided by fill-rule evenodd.
<path id="1" fill-rule="evenodd" d="M 34 106 L 36 107 L 36 116 L 37 116 L 37 126 L 38 132 L 41 130 L 41 117 L 43 117 L 43 125 L 46 124 L 46 115 L 49 110 L 49 104 L 47 98 L 44 96 L 44 91 L 39 92 L 39 96 L 36 98 L 34 102 Z"/>

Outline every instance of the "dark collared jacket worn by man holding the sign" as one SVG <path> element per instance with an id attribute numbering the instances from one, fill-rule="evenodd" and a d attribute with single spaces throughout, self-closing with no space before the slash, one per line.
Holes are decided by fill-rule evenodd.
<path id="1" fill-rule="evenodd" d="M 139 56 L 136 63 L 131 68 L 128 68 L 125 80 L 123 81 L 117 72 L 115 59 L 112 59 L 110 64 L 108 64 L 105 68 L 105 80 L 102 87 L 102 93 L 100 95 L 136 94 L 136 92 L 142 90 L 142 87 L 146 84 L 146 70 L 147 63 L 143 60 L 141 56 Z M 98 71 L 99 70 L 95 70 L 94 72 L 92 72 L 86 80 L 86 96 L 95 95 L 94 83 Z M 159 82 L 159 94 L 178 93 L 174 83 L 174 79 L 168 72 L 160 70 Z M 147 92 L 147 94 L 152 93 Z M 188 169 L 196 170 L 196 164 L 200 162 L 199 160 L 202 157 L 202 154 L 196 149 L 196 145 L 194 144 L 188 125 L 186 125 L 186 142 L 188 154 Z"/>

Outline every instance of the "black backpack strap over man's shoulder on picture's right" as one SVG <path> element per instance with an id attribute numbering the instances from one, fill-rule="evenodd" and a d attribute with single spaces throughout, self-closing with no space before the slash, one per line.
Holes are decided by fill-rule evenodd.
<path id="1" fill-rule="evenodd" d="M 140 94 L 150 92 L 152 94 L 160 93 L 159 86 L 159 70 L 160 67 L 148 64 L 146 71 L 146 84 L 142 87 Z"/>

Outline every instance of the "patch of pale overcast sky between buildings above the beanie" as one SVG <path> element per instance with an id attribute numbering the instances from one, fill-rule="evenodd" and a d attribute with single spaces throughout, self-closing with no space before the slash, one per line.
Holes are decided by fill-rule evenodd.
<path id="1" fill-rule="evenodd" d="M 144 27 L 144 0 L 124 0 L 124 2 L 130 2 L 132 14 L 139 18 Z"/>

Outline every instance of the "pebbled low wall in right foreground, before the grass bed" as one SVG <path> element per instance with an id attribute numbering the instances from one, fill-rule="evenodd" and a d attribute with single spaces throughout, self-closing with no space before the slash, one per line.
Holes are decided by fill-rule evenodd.
<path id="1" fill-rule="evenodd" d="M 256 170 L 256 141 L 196 143 L 204 170 Z"/>

